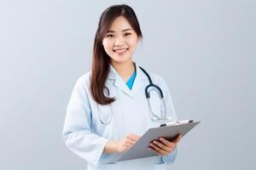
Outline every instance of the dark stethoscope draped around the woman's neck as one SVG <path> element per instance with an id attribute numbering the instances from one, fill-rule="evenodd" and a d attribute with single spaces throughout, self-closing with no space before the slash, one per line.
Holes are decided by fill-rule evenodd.
<path id="1" fill-rule="evenodd" d="M 136 67 L 135 67 L 135 68 L 136 68 Z M 169 120 L 170 117 L 167 117 L 167 114 L 166 114 L 166 103 L 165 103 L 165 101 L 164 101 L 164 94 L 163 94 L 161 88 L 152 82 L 152 79 L 151 79 L 151 77 L 148 75 L 148 72 L 147 72 L 147 71 L 145 71 L 141 66 L 139 66 L 139 68 L 140 68 L 140 69 L 143 71 L 143 73 L 148 77 L 148 82 L 149 82 L 149 84 L 148 84 L 148 86 L 145 88 L 145 95 L 146 95 L 146 99 L 148 100 L 148 109 L 149 109 L 149 112 L 150 112 L 152 121 L 165 121 L 165 120 Z M 109 93 L 108 87 L 105 86 L 105 89 L 107 90 L 107 94 L 108 94 L 108 96 L 109 96 L 110 93 Z M 151 104 L 150 104 L 150 92 L 151 92 L 152 90 L 156 91 L 156 92 L 159 94 L 161 104 L 163 105 L 163 113 L 160 113 L 160 116 L 158 116 L 158 115 L 156 115 L 156 114 L 154 113 L 153 108 L 152 108 L 152 106 L 151 106 Z M 103 121 L 102 121 L 102 116 L 101 116 L 101 114 L 100 114 L 100 111 L 99 111 L 99 108 L 98 108 L 98 105 L 97 105 L 98 116 L 99 116 L 99 118 L 100 118 L 100 122 L 101 122 L 103 125 L 108 125 L 108 124 L 110 124 L 111 121 L 112 121 L 113 109 L 112 109 L 111 104 L 109 104 L 109 105 L 110 105 L 110 110 L 111 110 L 111 111 L 110 111 L 110 117 L 109 117 L 108 122 L 103 122 Z M 161 110 L 161 111 L 162 111 L 162 110 Z M 160 112 L 161 112 L 161 111 L 160 111 Z"/>

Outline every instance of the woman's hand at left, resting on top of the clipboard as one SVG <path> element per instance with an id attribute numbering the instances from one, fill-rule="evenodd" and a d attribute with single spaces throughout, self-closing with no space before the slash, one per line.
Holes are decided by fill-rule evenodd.
<path id="1" fill-rule="evenodd" d="M 137 136 L 136 134 L 129 133 L 125 136 L 124 139 L 120 140 L 117 144 L 117 150 L 119 153 L 125 152 L 126 150 L 129 150 L 133 144 L 137 142 L 138 139 L 140 139 L 140 136 Z"/>

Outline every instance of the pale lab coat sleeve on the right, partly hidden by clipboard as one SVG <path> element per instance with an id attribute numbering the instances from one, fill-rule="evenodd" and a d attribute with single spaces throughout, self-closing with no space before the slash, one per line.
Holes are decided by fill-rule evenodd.
<path id="1" fill-rule="evenodd" d="M 170 93 L 168 85 L 162 78 L 160 78 L 160 86 L 163 89 L 167 114 L 172 113 L 172 115 L 168 115 L 168 116 L 172 116 L 172 122 L 177 121 L 176 111 L 174 109 L 174 105 L 172 102 L 172 95 Z M 173 161 L 175 161 L 176 156 L 177 156 L 177 148 L 173 150 L 172 153 L 170 153 L 168 156 L 161 156 L 160 161 L 161 163 L 172 163 Z"/>

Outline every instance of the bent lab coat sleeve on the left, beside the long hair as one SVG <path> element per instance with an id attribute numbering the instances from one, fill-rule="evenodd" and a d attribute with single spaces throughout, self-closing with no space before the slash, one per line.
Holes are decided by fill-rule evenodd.
<path id="1" fill-rule="evenodd" d="M 83 79 L 76 82 L 67 105 L 67 115 L 62 131 L 67 148 L 96 166 L 108 139 L 91 131 L 91 111 L 86 86 Z"/>

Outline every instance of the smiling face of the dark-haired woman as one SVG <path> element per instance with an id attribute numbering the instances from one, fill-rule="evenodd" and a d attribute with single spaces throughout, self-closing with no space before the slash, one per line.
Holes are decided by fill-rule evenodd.
<path id="1" fill-rule="evenodd" d="M 128 20 L 124 16 L 119 16 L 113 20 L 102 44 L 111 63 L 120 64 L 132 61 L 131 57 L 139 40 Z"/>

